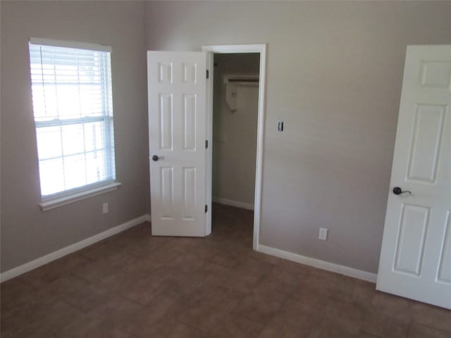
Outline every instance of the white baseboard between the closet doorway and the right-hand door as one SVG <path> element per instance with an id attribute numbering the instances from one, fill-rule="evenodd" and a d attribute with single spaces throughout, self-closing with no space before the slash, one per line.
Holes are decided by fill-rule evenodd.
<path id="1" fill-rule="evenodd" d="M 349 266 L 321 261 L 316 258 L 298 255 L 297 253 L 283 251 L 280 249 L 271 248 L 271 246 L 265 246 L 261 244 L 257 246 L 257 251 L 262 253 L 268 253 L 268 255 L 276 256 L 279 258 L 285 258 L 288 259 L 289 261 L 310 265 L 313 266 L 314 268 L 328 270 L 333 273 L 340 273 L 341 275 L 350 276 L 358 278 L 359 280 L 366 280 L 367 282 L 376 283 L 377 279 L 376 273 L 369 273 L 367 271 L 350 268 Z"/>

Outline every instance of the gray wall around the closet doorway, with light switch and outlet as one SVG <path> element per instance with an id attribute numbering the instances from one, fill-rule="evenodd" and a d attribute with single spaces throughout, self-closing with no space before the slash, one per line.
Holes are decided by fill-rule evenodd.
<path id="1" fill-rule="evenodd" d="M 148 49 L 268 44 L 260 242 L 376 273 L 406 46 L 450 44 L 451 2 L 146 8 Z"/>

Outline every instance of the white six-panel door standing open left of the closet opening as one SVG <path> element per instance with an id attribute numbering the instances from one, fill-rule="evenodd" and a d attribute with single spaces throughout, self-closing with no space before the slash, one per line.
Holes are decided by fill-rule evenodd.
<path id="1" fill-rule="evenodd" d="M 152 235 L 205 236 L 206 52 L 148 51 Z"/>

